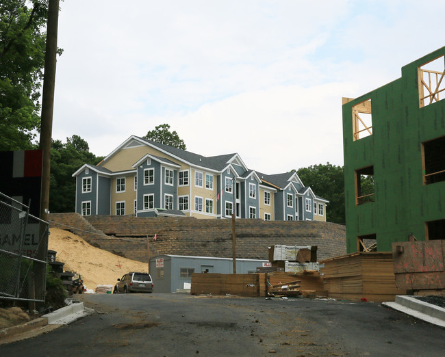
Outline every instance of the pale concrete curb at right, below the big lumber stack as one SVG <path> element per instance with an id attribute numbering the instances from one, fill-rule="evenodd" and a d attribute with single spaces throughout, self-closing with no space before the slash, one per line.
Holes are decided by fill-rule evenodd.
<path id="1" fill-rule="evenodd" d="M 445 308 L 420 301 L 416 297 L 397 295 L 395 302 L 382 302 L 382 305 L 445 328 Z"/>

